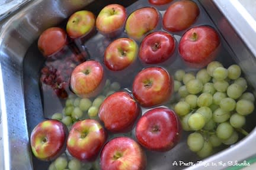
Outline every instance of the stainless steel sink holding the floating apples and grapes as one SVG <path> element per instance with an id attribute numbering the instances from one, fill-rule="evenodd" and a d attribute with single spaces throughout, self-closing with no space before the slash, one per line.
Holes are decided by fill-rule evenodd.
<path id="1" fill-rule="evenodd" d="M 88 6 L 91 1 L 33 1 L 2 22 L 0 32 L 0 169 L 47 169 L 49 165 L 46 162 L 37 161 L 31 155 L 29 146 L 31 129 L 44 119 L 38 81 L 39 70 L 36 70 L 36 68 L 40 68 L 43 59 L 40 58 L 39 51 L 30 50 L 36 49 L 35 41 L 40 33 L 46 28 L 63 24 L 69 15 L 82 8 L 98 12 L 106 4 L 121 3 L 128 6 L 135 2 L 95 0 L 93 4 Z M 207 17 L 211 19 L 210 22 L 222 35 L 223 46 L 226 51 L 220 60 L 226 64 L 238 63 L 249 83 L 255 89 L 256 16 L 253 11 L 250 12 L 251 8 L 248 9 L 249 12 L 244 11 L 241 10 L 241 6 L 236 4 L 241 3 L 243 9 L 247 9 L 252 7 L 246 3 L 249 0 L 199 0 L 199 2 L 207 12 Z M 251 18 L 248 19 L 248 16 Z M 25 58 L 25 56 L 30 57 Z M 220 161 L 239 162 L 255 155 L 256 123 L 253 121 L 255 117 L 255 113 L 249 116 L 247 128 L 251 132 L 247 137 L 232 147 L 204 159 L 199 164 L 187 167 L 187 169 L 206 169 L 208 163 L 212 165 L 212 162 L 218 164 Z M 171 154 L 168 156 L 185 158 L 185 160 L 180 161 L 191 159 L 196 162 L 198 159 L 188 152 L 188 149 L 185 148 L 185 142 L 178 145 Z M 188 155 L 183 156 L 184 154 Z M 154 166 L 152 169 L 170 169 L 170 167 L 181 169 L 181 167 L 171 164 L 171 161 L 165 161 L 163 164 L 165 166 Z M 207 169 L 223 169 L 227 166 L 212 165 L 208 166 Z"/>

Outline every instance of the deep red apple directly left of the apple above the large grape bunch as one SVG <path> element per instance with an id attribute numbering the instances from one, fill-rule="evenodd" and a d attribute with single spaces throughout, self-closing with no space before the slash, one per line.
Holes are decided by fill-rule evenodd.
<path id="1" fill-rule="evenodd" d="M 139 49 L 139 58 L 143 63 L 158 64 L 168 60 L 174 50 L 174 38 L 167 32 L 157 31 L 143 39 Z"/>

